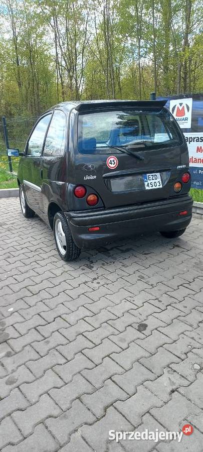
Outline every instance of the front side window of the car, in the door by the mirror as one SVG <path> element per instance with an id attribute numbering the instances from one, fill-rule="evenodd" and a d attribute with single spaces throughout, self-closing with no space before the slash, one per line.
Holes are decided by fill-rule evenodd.
<path id="1" fill-rule="evenodd" d="M 42 153 L 42 147 L 45 139 L 48 124 L 51 119 L 51 114 L 42 118 L 34 129 L 27 147 L 27 155 L 33 155 L 40 157 Z"/>

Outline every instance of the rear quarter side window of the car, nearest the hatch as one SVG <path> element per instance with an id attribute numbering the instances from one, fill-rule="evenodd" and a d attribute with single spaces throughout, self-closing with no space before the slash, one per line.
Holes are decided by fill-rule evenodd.
<path id="1" fill-rule="evenodd" d="M 44 147 L 44 156 L 60 157 L 64 154 L 66 136 L 66 116 L 63 111 L 55 110 L 49 126 Z"/>

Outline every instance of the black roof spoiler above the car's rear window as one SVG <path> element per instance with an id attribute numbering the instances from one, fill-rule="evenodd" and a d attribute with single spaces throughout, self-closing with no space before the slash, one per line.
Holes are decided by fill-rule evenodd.
<path id="1" fill-rule="evenodd" d="M 163 100 L 87 100 L 79 103 L 75 106 L 77 111 L 85 111 L 88 109 L 95 108 L 105 108 L 105 107 L 135 107 L 135 108 L 144 108 L 144 107 L 156 107 L 163 108 L 166 104 L 167 99 Z"/>

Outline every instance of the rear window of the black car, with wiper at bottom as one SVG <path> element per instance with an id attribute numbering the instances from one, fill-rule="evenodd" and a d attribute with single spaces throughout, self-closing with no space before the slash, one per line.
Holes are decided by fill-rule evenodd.
<path id="1" fill-rule="evenodd" d="M 136 150 L 177 146 L 181 136 L 167 110 L 119 110 L 79 115 L 78 148 L 82 154 L 121 152 L 116 147 Z"/>

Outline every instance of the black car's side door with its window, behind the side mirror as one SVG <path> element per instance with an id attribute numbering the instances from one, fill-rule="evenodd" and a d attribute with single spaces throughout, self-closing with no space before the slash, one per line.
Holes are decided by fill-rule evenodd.
<path id="1" fill-rule="evenodd" d="M 43 116 L 32 131 L 23 158 L 23 183 L 28 204 L 42 210 L 41 162 L 42 150 L 52 112 Z"/>

